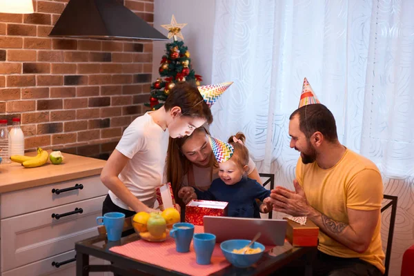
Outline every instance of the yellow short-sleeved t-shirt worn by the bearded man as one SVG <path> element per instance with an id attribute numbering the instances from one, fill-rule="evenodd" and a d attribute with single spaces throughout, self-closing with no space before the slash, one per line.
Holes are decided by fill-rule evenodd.
<path id="1" fill-rule="evenodd" d="M 346 149 L 342 159 L 324 170 L 317 165 L 303 164 L 299 158 L 296 178 L 304 189 L 309 204 L 335 221 L 348 224 L 346 208 L 375 210 L 381 208 L 383 184 L 380 171 L 372 161 Z M 364 253 L 357 253 L 339 244 L 335 239 L 319 231 L 318 249 L 328 255 L 344 258 L 359 258 L 373 264 L 384 273 L 384 252 L 381 242 L 381 216 L 371 244 Z"/>

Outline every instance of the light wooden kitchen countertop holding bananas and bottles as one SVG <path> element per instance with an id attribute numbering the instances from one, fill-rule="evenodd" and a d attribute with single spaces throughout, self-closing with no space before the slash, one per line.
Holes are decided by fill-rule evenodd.
<path id="1" fill-rule="evenodd" d="M 51 150 L 48 150 L 50 153 Z M 35 156 L 37 152 L 27 152 Z M 0 193 L 8 193 L 37 186 L 44 186 L 61 181 L 99 175 L 106 161 L 63 153 L 63 163 L 44 164 L 37 168 L 24 168 L 21 164 L 0 164 Z"/>

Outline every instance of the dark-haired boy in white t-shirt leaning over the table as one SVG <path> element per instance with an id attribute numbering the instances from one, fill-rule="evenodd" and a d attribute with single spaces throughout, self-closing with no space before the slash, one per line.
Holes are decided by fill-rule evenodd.
<path id="1" fill-rule="evenodd" d="M 120 212 L 130 217 L 155 211 L 155 188 L 164 180 L 168 137 L 190 135 L 195 128 L 213 121 L 211 95 L 206 98 L 201 91 L 190 83 L 179 83 L 163 107 L 146 112 L 126 128 L 101 172 L 101 181 L 110 190 L 103 202 L 103 214 Z"/>

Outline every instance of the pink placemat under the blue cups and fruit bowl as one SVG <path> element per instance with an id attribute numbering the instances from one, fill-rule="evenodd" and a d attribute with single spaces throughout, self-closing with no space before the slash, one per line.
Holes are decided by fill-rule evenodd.
<path id="1" fill-rule="evenodd" d="M 195 226 L 194 232 L 204 233 L 204 227 Z M 220 244 L 216 244 L 211 257 L 211 264 L 206 266 L 201 266 L 195 262 L 193 242 L 190 245 L 190 252 L 178 253 L 175 250 L 175 240 L 172 238 L 168 238 L 165 242 L 146 242 L 140 239 L 124 246 L 114 246 L 110 250 L 141 262 L 155 264 L 188 275 L 210 275 L 230 266 L 230 263 L 221 253 Z"/>

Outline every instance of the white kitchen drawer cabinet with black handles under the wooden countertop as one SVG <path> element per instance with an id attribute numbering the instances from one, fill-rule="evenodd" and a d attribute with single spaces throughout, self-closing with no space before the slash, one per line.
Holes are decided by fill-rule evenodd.
<path id="1" fill-rule="evenodd" d="M 107 193 L 97 175 L 1 194 L 1 275 L 75 275 L 75 262 L 52 262 L 72 259 L 75 242 L 98 235 Z"/>

